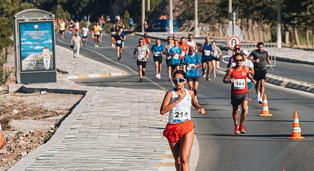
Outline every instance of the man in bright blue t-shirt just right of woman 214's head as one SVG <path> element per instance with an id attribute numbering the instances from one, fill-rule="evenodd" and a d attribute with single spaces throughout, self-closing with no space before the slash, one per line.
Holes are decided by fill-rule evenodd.
<path id="1" fill-rule="evenodd" d="M 199 84 L 198 67 L 202 66 L 202 63 L 199 56 L 195 54 L 193 46 L 189 47 L 189 54 L 184 57 L 182 64 L 183 70 L 187 73 L 189 88 L 190 90 L 193 90 L 196 99 Z"/>

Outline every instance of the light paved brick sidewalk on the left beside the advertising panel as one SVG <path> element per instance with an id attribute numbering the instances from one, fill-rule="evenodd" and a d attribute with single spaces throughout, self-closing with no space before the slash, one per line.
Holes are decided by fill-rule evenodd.
<path id="1" fill-rule="evenodd" d="M 159 112 L 164 90 L 76 85 L 69 80 L 75 74 L 124 71 L 83 56 L 73 59 L 72 51 L 61 46 L 56 46 L 56 61 L 68 77 L 58 75 L 57 83 L 24 85 L 23 90 L 85 96 L 47 143 L 8 171 L 175 171 L 168 141 L 162 135 L 168 121 Z M 196 139 L 192 150 L 194 171 Z"/>

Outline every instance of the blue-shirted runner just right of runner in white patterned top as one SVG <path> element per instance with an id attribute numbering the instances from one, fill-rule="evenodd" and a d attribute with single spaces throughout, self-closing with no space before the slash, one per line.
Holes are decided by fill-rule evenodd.
<path id="1" fill-rule="evenodd" d="M 156 40 L 156 44 L 151 47 L 151 51 L 154 56 L 156 78 L 161 79 L 160 72 L 163 64 L 163 53 L 165 53 L 166 49 L 165 46 L 161 44 L 160 39 Z"/>

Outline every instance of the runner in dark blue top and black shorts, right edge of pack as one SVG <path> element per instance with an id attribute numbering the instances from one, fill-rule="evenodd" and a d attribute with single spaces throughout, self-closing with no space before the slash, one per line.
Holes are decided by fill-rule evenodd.
<path id="1" fill-rule="evenodd" d="M 212 69 L 212 44 L 209 42 L 209 37 L 205 39 L 205 43 L 201 45 L 199 48 L 202 53 L 202 70 L 203 70 L 203 78 L 206 77 L 206 64 L 207 64 L 207 81 L 212 81 L 210 79 L 211 69 Z"/>

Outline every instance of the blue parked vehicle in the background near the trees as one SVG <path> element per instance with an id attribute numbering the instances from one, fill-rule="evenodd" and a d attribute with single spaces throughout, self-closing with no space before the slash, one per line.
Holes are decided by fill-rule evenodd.
<path id="1" fill-rule="evenodd" d="M 173 19 L 173 31 L 179 30 L 179 22 Z M 156 20 L 147 28 L 148 32 L 167 32 L 169 31 L 169 19 Z"/>

